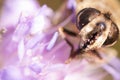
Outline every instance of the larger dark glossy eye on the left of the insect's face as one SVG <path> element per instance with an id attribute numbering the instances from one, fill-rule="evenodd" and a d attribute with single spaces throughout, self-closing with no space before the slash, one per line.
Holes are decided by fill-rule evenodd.
<path id="1" fill-rule="evenodd" d="M 94 8 L 85 8 L 77 14 L 76 26 L 81 30 L 85 25 L 100 15 L 100 11 Z"/>

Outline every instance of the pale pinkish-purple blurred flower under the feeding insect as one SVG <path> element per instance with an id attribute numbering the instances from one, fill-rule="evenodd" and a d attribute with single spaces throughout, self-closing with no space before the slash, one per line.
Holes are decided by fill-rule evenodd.
<path id="1" fill-rule="evenodd" d="M 76 7 L 72 0 L 67 5 L 68 10 Z M 0 18 L 0 80 L 103 80 L 108 74 L 119 80 L 120 60 L 112 55 L 113 49 L 105 49 L 109 54 L 102 54 L 103 62 L 81 58 L 65 64 L 70 47 L 58 28 L 72 24 L 74 12 L 57 25 L 55 15 L 35 0 L 5 1 Z"/>

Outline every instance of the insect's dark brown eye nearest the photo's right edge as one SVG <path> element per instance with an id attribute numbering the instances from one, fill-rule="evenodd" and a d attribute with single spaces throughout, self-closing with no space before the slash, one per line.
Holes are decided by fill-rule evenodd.
<path id="1" fill-rule="evenodd" d="M 111 24 L 110 32 L 103 45 L 112 45 L 119 37 L 119 29 L 115 23 Z"/>

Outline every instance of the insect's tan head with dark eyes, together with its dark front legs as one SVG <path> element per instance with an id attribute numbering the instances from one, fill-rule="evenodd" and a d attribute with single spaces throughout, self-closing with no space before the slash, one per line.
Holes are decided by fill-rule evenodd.
<path id="1" fill-rule="evenodd" d="M 78 33 L 70 31 L 64 27 L 59 28 L 60 34 L 64 36 L 65 41 L 71 47 L 69 59 L 75 58 L 85 52 L 91 52 L 99 59 L 102 59 L 99 48 L 112 46 L 119 37 L 119 29 L 116 23 L 111 19 L 110 13 L 103 13 L 92 7 L 80 10 L 76 15 L 76 27 Z M 68 34 L 78 37 L 78 48 L 74 50 L 73 44 L 65 37 Z"/>

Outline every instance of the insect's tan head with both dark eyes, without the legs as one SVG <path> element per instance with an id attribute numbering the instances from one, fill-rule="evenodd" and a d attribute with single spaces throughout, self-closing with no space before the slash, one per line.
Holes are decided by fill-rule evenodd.
<path id="1" fill-rule="evenodd" d="M 111 20 L 109 13 L 101 13 L 95 8 L 85 8 L 77 14 L 76 19 L 79 35 L 83 40 L 80 45 L 87 45 L 86 48 L 111 45 L 118 39 L 118 27 Z"/>

